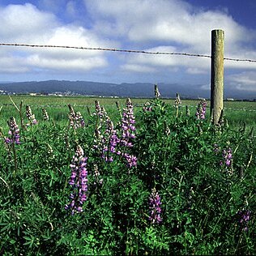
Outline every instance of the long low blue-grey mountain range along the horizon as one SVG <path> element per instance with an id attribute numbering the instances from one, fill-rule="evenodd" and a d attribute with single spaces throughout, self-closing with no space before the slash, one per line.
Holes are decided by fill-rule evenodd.
<path id="1" fill-rule="evenodd" d="M 176 96 L 178 92 L 182 98 L 210 98 L 210 90 L 203 89 L 202 85 L 188 85 L 177 83 L 158 83 L 160 94 L 163 97 Z M 41 82 L 19 82 L 6 83 L 0 82 L 0 90 L 10 93 L 43 93 L 49 94 L 54 92 L 65 94 L 79 94 L 87 96 L 122 96 L 122 97 L 153 97 L 153 83 L 97 83 L 89 81 L 60 81 L 48 80 Z M 238 100 L 253 100 L 256 95 L 251 92 L 230 91 L 225 89 L 225 97 Z"/>

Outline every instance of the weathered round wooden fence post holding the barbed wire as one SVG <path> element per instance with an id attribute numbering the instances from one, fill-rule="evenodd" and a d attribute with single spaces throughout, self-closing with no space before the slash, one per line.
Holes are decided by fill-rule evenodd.
<path id="1" fill-rule="evenodd" d="M 218 124 L 223 110 L 224 94 L 224 31 L 211 31 L 211 116 Z M 212 113 L 213 112 L 213 113 Z"/>

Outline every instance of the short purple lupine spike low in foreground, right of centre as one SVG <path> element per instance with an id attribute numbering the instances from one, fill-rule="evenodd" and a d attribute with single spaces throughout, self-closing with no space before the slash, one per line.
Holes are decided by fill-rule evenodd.
<path id="1" fill-rule="evenodd" d="M 162 221 L 160 213 L 161 213 L 161 198 L 158 192 L 156 192 L 156 188 L 153 188 L 151 190 L 151 195 L 149 197 L 149 209 L 150 209 L 150 215 L 149 220 L 151 221 L 151 224 L 160 224 Z"/>

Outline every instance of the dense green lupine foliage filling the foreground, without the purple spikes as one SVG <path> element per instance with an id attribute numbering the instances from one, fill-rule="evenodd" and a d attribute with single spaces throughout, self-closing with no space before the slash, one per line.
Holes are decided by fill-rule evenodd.
<path id="1" fill-rule="evenodd" d="M 0 254 L 256 253 L 253 130 L 213 126 L 209 114 L 197 120 L 193 110 L 189 116 L 151 100 L 135 114 L 134 147 L 126 152 L 138 162 L 129 169 L 120 155 L 113 162 L 100 157 L 93 149 L 96 114 L 74 108 L 85 122 L 76 130 L 67 108 L 57 118 L 49 109 L 49 121 L 39 118 L 34 126 L 18 122 L 20 144 L 6 144 L 8 128 L 0 130 Z M 121 136 L 119 113 L 108 113 Z M 19 120 L 19 113 L 13 115 Z M 26 124 L 23 110 L 22 116 Z M 101 129 L 104 134 L 106 127 Z M 87 201 L 83 212 L 70 215 L 64 207 L 78 145 L 88 157 Z M 153 188 L 161 199 L 162 221 L 155 224 L 149 220 Z M 241 221 L 245 211 L 250 218 Z"/>

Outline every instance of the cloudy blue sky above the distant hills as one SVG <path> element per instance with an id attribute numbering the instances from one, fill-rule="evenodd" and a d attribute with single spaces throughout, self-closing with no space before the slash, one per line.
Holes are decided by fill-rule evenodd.
<path id="1" fill-rule="evenodd" d="M 68 45 L 256 59 L 255 0 L 0 0 L 0 43 Z M 47 79 L 209 87 L 210 58 L 0 46 L 0 81 Z M 225 61 L 225 86 L 256 95 L 256 62 Z"/>

